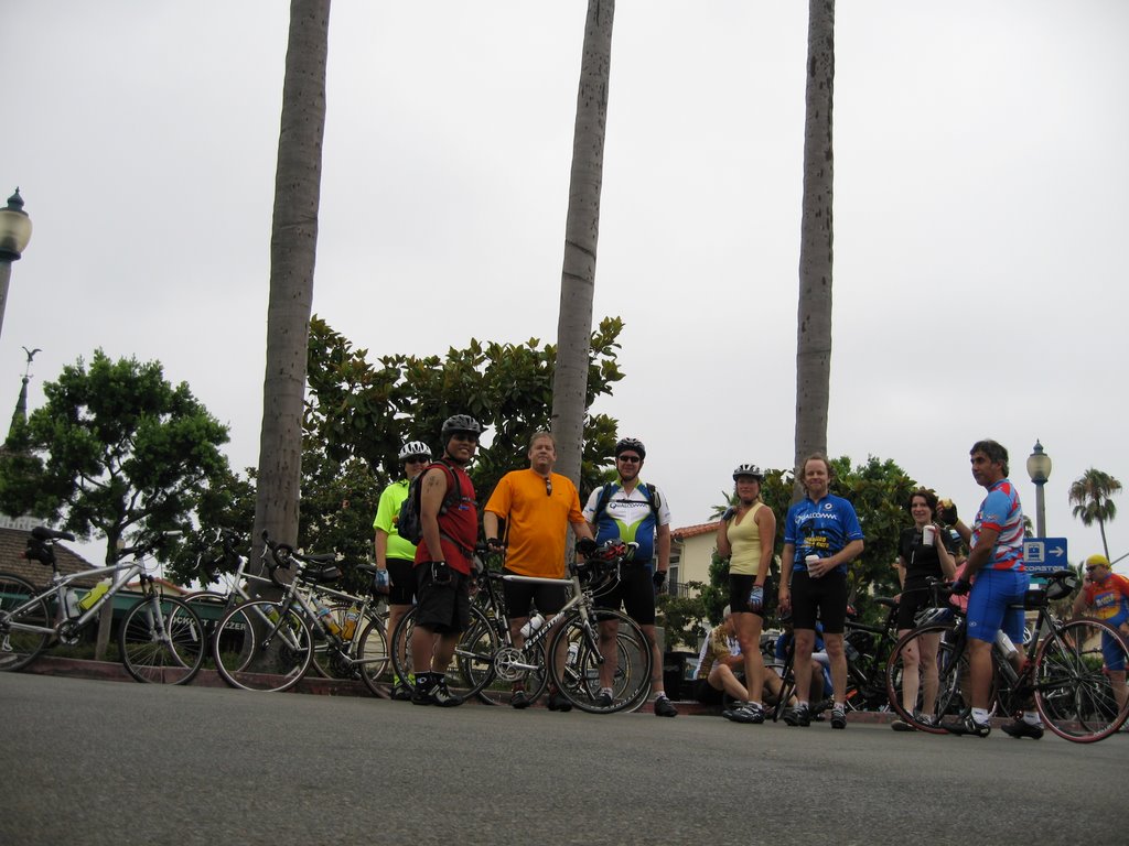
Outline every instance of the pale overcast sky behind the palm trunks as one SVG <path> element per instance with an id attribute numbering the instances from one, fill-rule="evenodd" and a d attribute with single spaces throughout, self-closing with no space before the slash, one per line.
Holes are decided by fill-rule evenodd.
<path id="1" fill-rule="evenodd" d="M 585 9 L 333 3 L 314 310 L 373 360 L 555 341 Z M 43 349 L 32 407 L 96 347 L 156 359 L 257 464 L 287 27 L 281 0 L 0 0 L 0 193 L 35 227 L 0 402 L 21 346 Z M 595 319 L 625 321 L 627 378 L 599 409 L 646 442 L 676 527 L 735 465 L 791 461 L 806 29 L 800 0 L 616 8 Z M 1033 515 L 1038 438 L 1073 561 L 1101 540 L 1070 482 L 1129 483 L 1127 35 L 1123 0 L 835 21 L 830 452 L 971 517 L 968 451 L 995 438 Z"/>

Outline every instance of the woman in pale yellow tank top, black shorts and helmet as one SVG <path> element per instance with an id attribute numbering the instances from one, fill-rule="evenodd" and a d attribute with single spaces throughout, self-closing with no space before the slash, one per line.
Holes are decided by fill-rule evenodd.
<path id="1" fill-rule="evenodd" d="M 776 515 L 761 502 L 764 474 L 756 465 L 743 464 L 733 472 L 738 505 L 730 509 L 717 530 L 717 552 L 729 558 L 729 607 L 745 656 L 745 688 L 750 700 L 725 716 L 738 723 L 763 723 L 761 704 L 764 661 L 761 629 L 764 627 L 764 582 L 772 562 Z"/>

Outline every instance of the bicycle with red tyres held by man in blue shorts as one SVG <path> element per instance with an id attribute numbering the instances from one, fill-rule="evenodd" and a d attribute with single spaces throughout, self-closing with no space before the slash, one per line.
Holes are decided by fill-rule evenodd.
<path id="1" fill-rule="evenodd" d="M 1121 634 L 1099 619 L 1078 618 L 1061 622 L 1049 602 L 1069 597 L 1078 584 L 1070 570 L 1048 573 L 1047 585 L 1032 588 L 1023 603 L 1013 608 L 1035 611 L 1036 623 L 1023 649 L 1023 664 L 1016 670 L 1000 638 L 992 644 L 992 691 L 990 708 L 1000 716 L 1016 719 L 1030 710 L 1032 700 L 1043 724 L 1054 734 L 1076 743 L 1093 743 L 1113 734 L 1129 716 L 1129 691 L 1124 670 L 1129 646 Z M 948 591 L 935 585 L 938 601 Z M 1041 634 L 1040 634 L 1041 633 Z M 937 695 L 934 720 L 921 716 L 925 676 L 913 655 L 920 654 L 920 638 L 937 643 Z M 910 651 L 907 669 L 904 653 Z M 928 650 L 927 650 L 928 652 Z M 1112 669 L 1111 669 L 1111 666 Z M 1113 678 L 1120 670 L 1121 678 Z M 921 673 L 921 675 L 914 675 Z M 902 699 L 903 686 L 911 679 L 919 693 L 913 707 Z M 968 633 L 963 611 L 955 607 L 938 609 L 902 637 L 890 659 L 887 689 L 899 716 L 918 731 L 944 734 L 944 717 L 964 719 L 971 711 Z M 930 686 L 931 686 L 930 681 Z M 1120 700 L 1120 702 L 1119 702 Z"/>

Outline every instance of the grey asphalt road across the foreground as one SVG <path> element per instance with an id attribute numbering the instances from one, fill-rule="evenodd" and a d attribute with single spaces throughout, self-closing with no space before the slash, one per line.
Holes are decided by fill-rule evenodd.
<path id="1" fill-rule="evenodd" d="M 23 673 L 0 673 L 0 714 L 7 846 L 1043 846 L 1129 830 L 1129 734 L 1079 746 Z"/>

